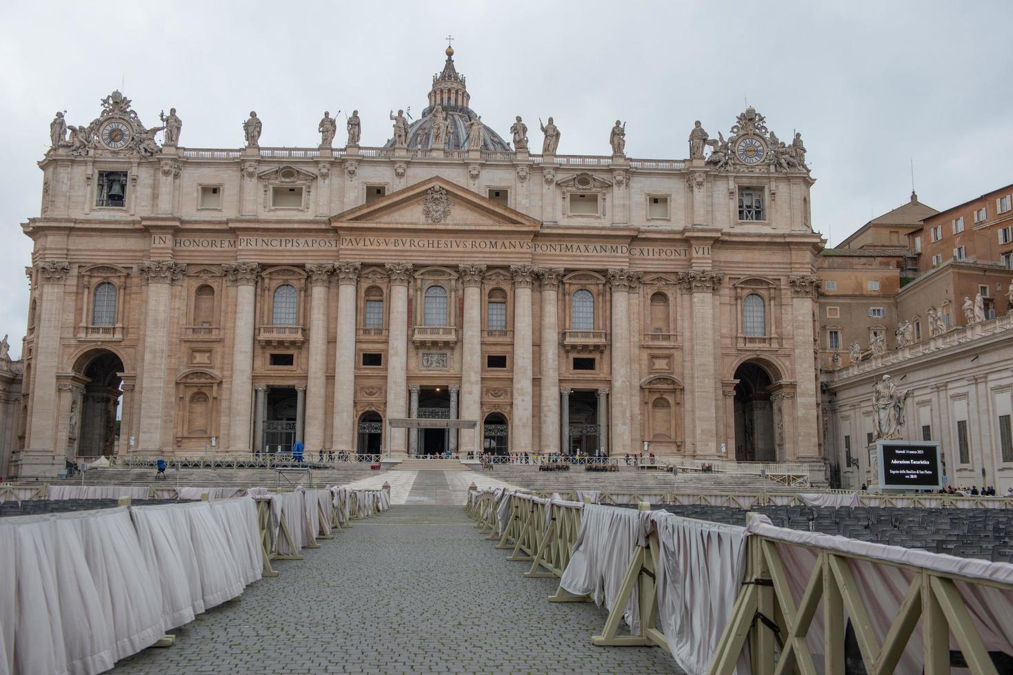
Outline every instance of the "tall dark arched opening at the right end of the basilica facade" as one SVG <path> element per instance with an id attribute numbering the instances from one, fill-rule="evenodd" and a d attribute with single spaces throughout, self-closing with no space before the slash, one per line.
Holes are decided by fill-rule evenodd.
<path id="1" fill-rule="evenodd" d="M 774 378 L 763 365 L 746 361 L 735 370 L 735 460 L 777 461 Z"/>

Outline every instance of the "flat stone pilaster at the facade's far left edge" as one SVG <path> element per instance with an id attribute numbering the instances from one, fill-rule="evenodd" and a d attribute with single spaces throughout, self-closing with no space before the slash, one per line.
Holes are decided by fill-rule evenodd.
<path id="1" fill-rule="evenodd" d="M 29 390 L 31 428 L 26 447 L 29 451 L 45 452 L 51 456 L 57 449 L 57 370 L 60 359 L 60 326 L 63 323 L 64 282 L 69 271 L 70 263 L 66 261 L 41 262 L 31 269 L 31 282 L 36 284 L 38 290 L 35 302 L 35 354 L 32 363 L 35 382 Z M 27 382 L 24 384 L 26 388 L 30 385 Z M 31 460 L 21 461 L 22 475 L 29 473 L 29 463 Z"/>

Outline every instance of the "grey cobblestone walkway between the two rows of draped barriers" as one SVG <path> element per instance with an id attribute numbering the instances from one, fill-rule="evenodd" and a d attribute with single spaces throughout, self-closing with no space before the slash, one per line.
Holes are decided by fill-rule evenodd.
<path id="1" fill-rule="evenodd" d="M 447 479 L 416 489 L 440 499 Z M 395 506 L 303 555 L 112 672 L 679 672 L 656 647 L 592 646 L 605 613 L 547 602 L 557 581 L 523 578 L 458 505 Z"/>

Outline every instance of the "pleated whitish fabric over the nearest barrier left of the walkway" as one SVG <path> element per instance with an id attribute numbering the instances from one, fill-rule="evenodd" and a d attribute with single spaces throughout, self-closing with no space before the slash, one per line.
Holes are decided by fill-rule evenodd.
<path id="1" fill-rule="evenodd" d="M 0 674 L 99 673 L 260 578 L 256 507 L 0 519 Z"/>

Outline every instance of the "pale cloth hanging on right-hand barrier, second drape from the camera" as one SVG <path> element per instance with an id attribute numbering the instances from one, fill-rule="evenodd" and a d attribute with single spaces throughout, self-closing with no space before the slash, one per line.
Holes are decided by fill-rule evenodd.
<path id="1" fill-rule="evenodd" d="M 637 511 L 586 504 L 573 555 L 559 586 L 574 595 L 593 594 L 610 611 L 639 537 Z M 634 635 L 640 630 L 639 584 L 623 613 Z"/>

